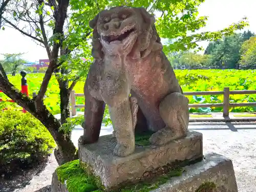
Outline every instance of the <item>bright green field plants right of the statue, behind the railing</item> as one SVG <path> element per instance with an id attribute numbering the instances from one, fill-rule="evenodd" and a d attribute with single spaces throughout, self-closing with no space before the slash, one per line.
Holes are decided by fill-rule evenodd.
<path id="1" fill-rule="evenodd" d="M 176 70 L 183 92 L 255 90 L 256 70 Z M 223 102 L 223 95 L 187 96 L 189 103 Z M 255 102 L 256 94 L 230 95 L 230 102 Z M 190 108 L 190 112 L 221 112 L 222 107 Z M 254 112 L 253 106 L 230 108 L 230 112 Z"/>

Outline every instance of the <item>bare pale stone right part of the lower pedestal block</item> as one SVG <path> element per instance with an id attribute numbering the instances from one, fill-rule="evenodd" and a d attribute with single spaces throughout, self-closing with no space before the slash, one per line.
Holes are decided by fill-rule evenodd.
<path id="1" fill-rule="evenodd" d="M 182 176 L 170 179 L 151 192 L 196 192 L 205 182 L 216 184 L 216 190 L 212 192 L 238 192 L 232 161 L 224 156 L 207 154 L 203 161 L 185 169 Z"/>

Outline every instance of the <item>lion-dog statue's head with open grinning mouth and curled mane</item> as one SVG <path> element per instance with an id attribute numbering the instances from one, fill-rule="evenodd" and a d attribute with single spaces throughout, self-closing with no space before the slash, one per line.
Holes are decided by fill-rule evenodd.
<path id="1" fill-rule="evenodd" d="M 125 55 L 143 58 L 162 44 L 155 17 L 144 8 L 113 7 L 99 12 L 89 23 L 93 29 L 92 56 Z"/>

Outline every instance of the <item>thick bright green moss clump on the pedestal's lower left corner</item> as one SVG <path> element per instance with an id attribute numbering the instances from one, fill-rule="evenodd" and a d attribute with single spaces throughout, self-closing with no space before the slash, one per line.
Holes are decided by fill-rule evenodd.
<path id="1" fill-rule="evenodd" d="M 69 192 L 91 192 L 101 190 L 98 178 L 80 167 L 79 160 L 74 160 L 59 166 L 56 169 L 59 181 L 66 183 Z"/>

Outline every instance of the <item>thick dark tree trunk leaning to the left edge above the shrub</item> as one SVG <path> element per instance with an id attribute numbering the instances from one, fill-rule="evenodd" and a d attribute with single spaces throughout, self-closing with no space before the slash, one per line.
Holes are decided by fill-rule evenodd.
<path id="1" fill-rule="evenodd" d="M 59 155 L 55 157 L 59 164 L 78 159 L 77 150 L 70 139 L 70 134 L 65 135 L 63 132 L 59 132 L 60 122 L 47 110 L 44 104 L 40 106 L 40 111 L 36 111 L 35 101 L 20 93 L 2 75 L 0 75 L 0 89 L 46 126 L 58 146 Z"/>

